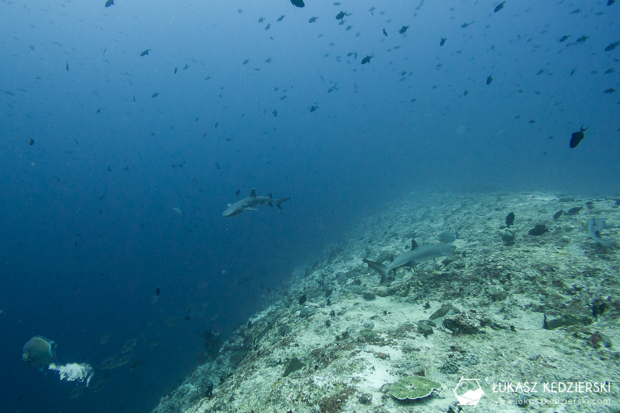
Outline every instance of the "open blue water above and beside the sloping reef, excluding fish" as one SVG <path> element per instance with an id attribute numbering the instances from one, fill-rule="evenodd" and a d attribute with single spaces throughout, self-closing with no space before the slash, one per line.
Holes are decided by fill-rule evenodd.
<path id="1" fill-rule="evenodd" d="M 620 4 L 104 2 L 0 3 L 2 411 L 148 412 L 205 329 L 409 191 L 620 191 Z M 252 188 L 292 199 L 221 216 Z M 20 360 L 35 335 L 84 394 Z M 141 367 L 100 370 L 133 338 Z"/>

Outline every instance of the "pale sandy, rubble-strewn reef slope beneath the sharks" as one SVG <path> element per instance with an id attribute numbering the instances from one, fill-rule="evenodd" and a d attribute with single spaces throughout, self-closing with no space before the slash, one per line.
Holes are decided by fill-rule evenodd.
<path id="1" fill-rule="evenodd" d="M 618 200 L 409 194 L 361 219 L 339 245 L 294 272 L 285 292 L 154 412 L 474 411 L 457 406 L 453 389 L 461 378 L 479 379 L 485 394 L 478 413 L 620 412 L 620 245 L 598 245 L 584 230 L 591 217 L 620 225 Z M 567 215 L 573 207 L 583 209 Z M 554 220 L 560 209 L 564 214 Z M 500 239 L 509 212 L 516 217 L 513 245 Z M 549 232 L 528 235 L 536 224 Z M 402 268 L 379 284 L 378 272 L 361 261 L 387 263 L 390 254 L 410 248 L 412 237 L 428 245 L 457 229 L 455 255 L 420 264 L 415 274 Z M 620 241 L 620 229 L 603 231 L 603 238 Z M 604 303 L 596 319 L 595 301 Z M 445 327 L 432 324 L 429 334 L 428 323 L 418 322 L 442 305 L 458 313 L 444 319 Z M 544 315 L 568 325 L 544 329 Z M 294 358 L 303 367 L 284 376 Z M 413 375 L 438 381 L 441 389 L 414 401 L 392 397 L 389 385 Z M 543 388 L 595 381 L 610 383 L 610 391 Z M 494 383 L 505 382 L 536 382 L 538 393 L 493 391 Z M 209 383 L 215 385 L 210 398 Z M 527 406 L 517 406 L 517 398 Z"/>

